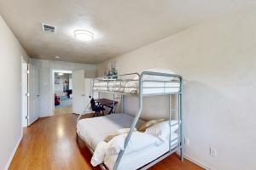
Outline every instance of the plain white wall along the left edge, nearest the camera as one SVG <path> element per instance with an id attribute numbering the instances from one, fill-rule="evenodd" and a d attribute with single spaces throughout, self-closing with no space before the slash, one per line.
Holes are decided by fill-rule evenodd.
<path id="1" fill-rule="evenodd" d="M 21 132 L 21 48 L 0 15 L 0 169 L 7 169 L 22 137 Z"/>

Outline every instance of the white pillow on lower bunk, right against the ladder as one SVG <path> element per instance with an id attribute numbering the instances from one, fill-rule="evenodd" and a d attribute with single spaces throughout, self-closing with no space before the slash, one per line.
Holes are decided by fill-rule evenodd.
<path id="1" fill-rule="evenodd" d="M 178 128 L 177 120 L 172 120 L 171 125 L 174 125 L 171 127 L 171 133 L 174 133 L 175 131 L 177 131 Z M 169 121 L 160 122 L 153 125 L 152 127 L 148 127 L 145 133 L 151 134 L 155 137 L 158 137 L 162 141 L 165 141 L 166 139 L 168 139 L 170 134 Z"/>

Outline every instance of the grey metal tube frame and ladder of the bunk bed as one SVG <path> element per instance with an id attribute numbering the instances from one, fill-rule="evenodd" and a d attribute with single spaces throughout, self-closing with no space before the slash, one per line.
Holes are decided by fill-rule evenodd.
<path id="1" fill-rule="evenodd" d="M 91 95 L 93 96 L 93 92 L 97 91 L 97 92 L 101 92 L 101 93 L 110 93 L 113 94 L 113 102 L 115 99 L 115 94 L 120 94 L 122 97 L 122 110 L 124 112 L 124 108 L 125 108 L 125 98 L 124 95 L 137 95 L 139 97 L 139 110 L 137 111 L 137 115 L 135 116 L 132 124 L 131 124 L 131 129 L 130 132 L 127 134 L 126 139 L 125 139 L 125 144 L 124 144 L 124 150 L 120 150 L 119 155 L 117 157 L 117 160 L 115 161 L 113 170 L 117 170 L 119 167 L 119 162 L 122 159 L 122 156 L 125 153 L 125 149 L 129 143 L 129 140 L 131 139 L 131 134 L 134 132 L 134 128 L 137 125 L 137 122 L 139 120 L 139 117 L 141 116 L 141 113 L 143 111 L 143 97 L 145 96 L 161 96 L 161 95 L 168 95 L 168 110 L 169 110 L 169 127 L 170 127 L 170 136 L 169 136 L 169 150 L 163 154 L 162 156 L 158 157 L 157 159 L 155 159 L 154 161 L 148 162 L 147 165 L 141 167 L 141 169 L 148 169 L 149 167 L 154 166 L 154 164 L 158 163 L 159 161 L 162 161 L 163 159 L 165 159 L 167 156 L 172 155 L 174 152 L 177 152 L 178 150 L 180 150 L 180 159 L 181 161 L 183 161 L 183 77 L 179 76 L 177 74 L 167 74 L 167 73 L 160 73 L 160 72 L 152 72 L 152 71 L 143 71 L 141 74 L 139 73 L 131 73 L 131 74 L 123 74 L 123 75 L 118 75 L 117 77 L 125 77 L 125 76 L 132 76 L 132 75 L 136 75 L 138 77 L 137 80 L 135 79 L 113 79 L 112 77 L 98 77 L 93 79 L 92 81 L 92 88 L 91 88 Z M 176 78 L 179 82 L 179 90 L 177 92 L 171 92 L 171 93 L 160 93 L 160 94 L 143 94 L 143 82 L 173 82 L 172 80 L 170 81 L 160 81 L 160 80 L 143 80 L 143 77 L 145 75 L 149 75 L 149 76 L 155 76 L 155 77 L 170 77 L 170 78 Z M 108 82 L 108 86 L 103 86 L 101 88 L 107 88 L 107 90 L 94 90 L 94 84 L 96 81 L 102 81 L 102 82 Z M 114 86 L 114 87 L 109 87 L 109 82 L 122 82 L 122 81 L 138 81 L 139 85 L 137 88 L 137 94 L 128 94 L 128 93 L 120 93 L 119 91 L 114 91 L 114 90 L 109 90 L 110 88 L 134 88 L 134 87 L 123 87 L 120 85 L 120 87 Z M 144 87 L 144 88 L 177 88 L 177 87 Z M 171 105 L 171 98 L 172 95 L 177 95 L 177 109 L 172 109 L 172 105 Z M 90 104 L 90 101 L 86 104 L 86 107 Z M 115 111 L 114 108 L 114 103 L 113 103 L 113 112 Z M 177 142 L 177 146 L 174 147 L 172 149 L 172 142 L 176 139 L 171 139 L 171 128 L 177 124 L 171 125 L 171 120 L 172 120 L 172 112 L 173 111 L 177 111 L 177 124 L 178 124 L 178 142 Z M 83 114 L 79 115 L 79 118 L 82 116 Z M 78 121 L 79 121 L 78 118 Z M 176 145 L 176 144 L 175 144 Z M 88 145 L 87 145 L 88 146 Z M 89 147 L 89 146 L 88 146 Z M 90 147 L 89 147 L 90 149 Z M 94 150 L 90 149 L 90 152 L 93 154 Z M 102 169 L 108 169 L 108 167 L 102 163 L 100 165 L 102 167 Z"/>

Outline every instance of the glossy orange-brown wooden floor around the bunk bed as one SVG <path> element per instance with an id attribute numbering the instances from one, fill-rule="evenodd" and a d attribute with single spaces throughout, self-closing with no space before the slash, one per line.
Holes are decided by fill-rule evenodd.
<path id="1" fill-rule="evenodd" d="M 90 170 L 90 151 L 76 139 L 76 118 L 73 114 L 40 118 L 24 129 L 15 157 L 9 167 L 20 170 Z M 169 156 L 150 169 L 197 170 L 203 169 L 192 162 Z"/>

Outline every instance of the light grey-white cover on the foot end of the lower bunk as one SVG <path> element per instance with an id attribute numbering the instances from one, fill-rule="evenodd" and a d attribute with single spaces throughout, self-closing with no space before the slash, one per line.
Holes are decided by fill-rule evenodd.
<path id="1" fill-rule="evenodd" d="M 125 113 L 116 113 L 108 116 L 99 116 L 79 120 L 77 133 L 92 150 L 96 150 L 97 144 L 103 141 L 110 133 L 121 128 L 131 127 L 134 116 Z M 137 127 L 143 124 L 143 120 L 137 122 Z"/>

